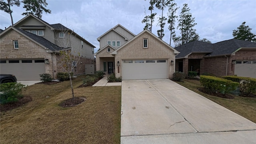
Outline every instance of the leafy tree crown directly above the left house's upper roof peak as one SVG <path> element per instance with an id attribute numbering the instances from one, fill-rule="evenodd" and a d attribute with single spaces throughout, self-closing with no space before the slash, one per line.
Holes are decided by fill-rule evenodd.
<path id="1" fill-rule="evenodd" d="M 51 10 L 46 9 L 48 5 L 46 0 L 23 0 L 22 2 L 24 3 L 23 8 L 26 8 L 26 12 L 22 13 L 22 15 L 34 14 L 41 19 L 43 11 L 46 14 L 51 13 Z"/>

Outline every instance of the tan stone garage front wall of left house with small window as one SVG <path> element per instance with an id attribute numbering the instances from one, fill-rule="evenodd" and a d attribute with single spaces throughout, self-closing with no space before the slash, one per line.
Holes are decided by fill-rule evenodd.
<path id="1" fill-rule="evenodd" d="M 14 50 L 13 40 L 18 40 L 18 50 Z M 56 78 L 54 73 L 57 69 L 56 57 L 15 30 L 10 30 L 8 34 L 1 36 L 0 50 L 0 59 L 48 59 L 50 64 L 45 64 L 45 73 Z"/>

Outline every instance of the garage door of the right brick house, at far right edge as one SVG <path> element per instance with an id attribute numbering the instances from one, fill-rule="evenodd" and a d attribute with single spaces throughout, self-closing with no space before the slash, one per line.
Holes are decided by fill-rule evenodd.
<path id="1" fill-rule="evenodd" d="M 256 78 L 256 61 L 237 60 L 235 74 L 237 76 Z"/>

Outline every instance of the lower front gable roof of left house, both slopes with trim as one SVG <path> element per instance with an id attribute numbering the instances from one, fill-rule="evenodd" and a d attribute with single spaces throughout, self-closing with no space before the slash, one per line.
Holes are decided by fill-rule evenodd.
<path id="1" fill-rule="evenodd" d="M 41 36 L 37 36 L 35 34 L 32 34 L 30 32 L 26 32 L 25 30 L 22 30 L 20 28 L 15 28 L 13 26 L 10 26 L 9 28 L 7 28 L 3 33 L 0 34 L 0 36 L 2 37 L 3 35 L 8 34 L 8 32 L 10 32 L 11 30 L 15 30 L 19 34 L 25 36 L 29 40 L 31 40 L 31 41 L 35 42 L 36 44 L 40 45 L 41 47 L 43 47 L 47 50 L 50 50 L 51 52 L 62 50 L 62 48 L 60 48 L 56 44 L 53 44 L 52 42 L 46 40 L 45 38 L 43 38 Z"/>

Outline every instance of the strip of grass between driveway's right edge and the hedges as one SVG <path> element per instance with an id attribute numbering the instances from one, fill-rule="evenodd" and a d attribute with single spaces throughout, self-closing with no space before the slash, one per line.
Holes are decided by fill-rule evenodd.
<path id="1" fill-rule="evenodd" d="M 178 84 L 193 90 L 194 92 L 236 112 L 237 114 L 251 120 L 252 122 L 256 122 L 256 98 L 248 98 L 242 96 L 234 96 L 234 99 L 226 99 L 226 98 L 219 98 L 216 96 L 211 96 L 208 94 L 204 94 L 200 92 L 197 88 L 202 88 L 200 81 L 198 80 L 188 80 L 184 79 L 184 82 L 177 82 Z"/>

